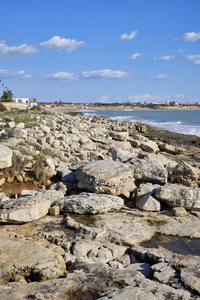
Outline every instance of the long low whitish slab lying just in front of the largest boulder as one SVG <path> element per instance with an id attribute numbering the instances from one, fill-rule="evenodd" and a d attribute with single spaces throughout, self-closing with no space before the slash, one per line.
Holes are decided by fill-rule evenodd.
<path id="1" fill-rule="evenodd" d="M 54 204 L 58 205 L 62 212 L 100 214 L 120 209 L 124 200 L 112 195 L 81 193 L 59 199 Z"/>

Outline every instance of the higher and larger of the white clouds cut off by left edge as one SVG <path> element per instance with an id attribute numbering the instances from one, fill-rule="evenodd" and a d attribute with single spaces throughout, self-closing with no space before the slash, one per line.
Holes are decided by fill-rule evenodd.
<path id="1" fill-rule="evenodd" d="M 38 50 L 35 46 L 22 44 L 20 46 L 9 47 L 5 44 L 5 41 L 0 41 L 0 56 L 15 57 L 30 55 L 37 52 Z"/>

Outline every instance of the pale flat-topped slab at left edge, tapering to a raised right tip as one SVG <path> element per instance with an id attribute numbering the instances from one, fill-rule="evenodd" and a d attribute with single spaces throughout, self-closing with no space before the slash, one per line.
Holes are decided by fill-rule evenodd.
<path id="1" fill-rule="evenodd" d="M 42 218 L 48 213 L 52 202 L 62 197 L 61 191 L 49 190 L 0 202 L 0 222 L 26 223 Z"/>

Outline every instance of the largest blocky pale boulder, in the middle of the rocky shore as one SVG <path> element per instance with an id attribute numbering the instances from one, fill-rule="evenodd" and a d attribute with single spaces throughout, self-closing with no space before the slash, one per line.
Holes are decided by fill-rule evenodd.
<path id="1" fill-rule="evenodd" d="M 75 176 L 79 189 L 95 193 L 129 197 L 130 192 L 135 190 L 133 172 L 121 162 L 92 162 L 79 168 Z"/>

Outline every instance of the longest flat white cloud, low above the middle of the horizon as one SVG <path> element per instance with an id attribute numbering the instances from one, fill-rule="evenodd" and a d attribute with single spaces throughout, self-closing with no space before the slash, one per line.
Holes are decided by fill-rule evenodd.
<path id="1" fill-rule="evenodd" d="M 126 79 L 129 77 L 129 73 L 122 71 L 113 71 L 110 69 L 96 70 L 96 71 L 85 71 L 82 72 L 84 78 L 118 78 Z"/>

